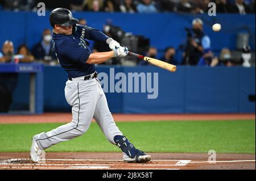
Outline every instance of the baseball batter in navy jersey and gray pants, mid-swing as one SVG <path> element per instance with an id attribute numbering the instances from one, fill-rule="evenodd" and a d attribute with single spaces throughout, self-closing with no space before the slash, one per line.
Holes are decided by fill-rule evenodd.
<path id="1" fill-rule="evenodd" d="M 115 125 L 94 66 L 113 57 L 125 57 L 128 53 L 127 48 L 121 47 L 117 41 L 101 31 L 76 24 L 78 20 L 73 18 L 68 9 L 53 10 L 49 21 L 53 27 L 52 43 L 56 57 L 61 67 L 68 73 L 65 99 L 72 106 L 72 121 L 32 137 L 32 162 L 42 162 L 44 149 L 84 134 L 90 127 L 92 118 L 96 120 L 108 140 L 122 150 L 123 161 L 150 161 L 151 156 L 136 149 Z M 104 41 L 109 44 L 112 51 L 92 53 L 86 39 Z"/>

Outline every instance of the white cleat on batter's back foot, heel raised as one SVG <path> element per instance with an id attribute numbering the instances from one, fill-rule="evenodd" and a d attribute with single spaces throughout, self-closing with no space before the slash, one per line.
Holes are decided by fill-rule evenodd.
<path id="1" fill-rule="evenodd" d="M 33 163 L 46 163 L 46 153 L 41 150 L 36 143 L 35 136 L 32 137 L 32 146 L 30 149 L 30 158 Z"/>

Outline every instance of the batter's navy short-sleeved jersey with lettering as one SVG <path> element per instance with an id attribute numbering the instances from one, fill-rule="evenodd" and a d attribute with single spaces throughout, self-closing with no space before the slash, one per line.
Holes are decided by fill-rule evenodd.
<path id="1" fill-rule="evenodd" d="M 72 35 L 52 33 L 53 48 L 57 60 L 68 73 L 69 78 L 81 77 L 94 73 L 94 64 L 86 64 L 91 50 L 86 39 L 105 41 L 109 38 L 104 33 L 88 26 L 76 24 Z"/>

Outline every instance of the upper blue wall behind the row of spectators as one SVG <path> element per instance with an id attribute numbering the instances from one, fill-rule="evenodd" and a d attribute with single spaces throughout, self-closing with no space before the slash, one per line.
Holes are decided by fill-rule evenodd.
<path id="1" fill-rule="evenodd" d="M 190 28 L 194 18 L 204 21 L 204 31 L 212 40 L 212 49 L 220 51 L 224 47 L 236 49 L 237 33 L 249 32 L 250 45 L 255 49 L 255 15 L 239 14 L 123 14 L 105 12 L 74 12 L 76 18 L 86 18 L 88 26 L 102 30 L 106 20 L 111 19 L 115 26 L 119 26 L 125 32 L 134 35 L 142 35 L 150 38 L 151 45 L 163 50 L 168 46 L 178 48 L 186 41 L 185 27 Z M 15 23 L 14 23 L 15 22 Z M 29 48 L 38 43 L 42 38 L 45 28 L 51 28 L 49 24 L 49 11 L 46 16 L 38 16 L 36 12 L 0 11 L 0 46 L 6 40 L 14 41 L 15 48 L 26 43 Z M 221 23 L 220 32 L 212 31 L 214 23 Z M 15 25 L 14 25 L 15 24 Z"/>

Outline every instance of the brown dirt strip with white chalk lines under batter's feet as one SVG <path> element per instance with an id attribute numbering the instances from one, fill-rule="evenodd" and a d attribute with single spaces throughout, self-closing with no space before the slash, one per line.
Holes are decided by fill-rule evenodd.
<path id="1" fill-rule="evenodd" d="M 72 154 L 74 158 L 72 158 Z M 47 153 L 45 163 L 32 163 L 28 153 L 0 153 L 0 169 L 43 170 L 181 170 L 255 169 L 255 154 L 220 154 L 208 162 L 207 154 L 150 153 L 148 163 L 123 162 L 119 153 Z M 101 157 L 97 159 L 95 157 Z M 189 158 L 189 155 L 191 159 Z M 5 157 L 5 158 L 4 158 Z M 119 159 L 117 158 L 119 157 Z M 200 159 L 201 157 L 201 159 Z M 225 157 L 225 158 L 224 158 Z M 181 159 L 183 158 L 183 159 Z"/>

